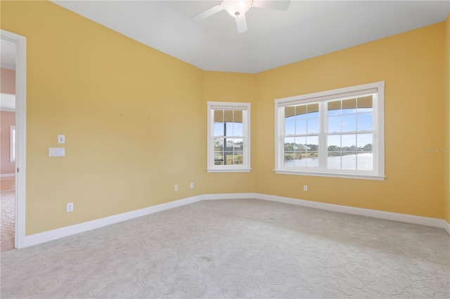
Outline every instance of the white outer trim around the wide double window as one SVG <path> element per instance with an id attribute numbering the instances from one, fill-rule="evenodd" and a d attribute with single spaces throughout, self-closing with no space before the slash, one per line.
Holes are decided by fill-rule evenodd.
<path id="1" fill-rule="evenodd" d="M 309 93 L 306 95 L 296 95 L 289 98 L 280 98 L 275 100 L 275 173 L 280 174 L 293 174 L 293 175 L 313 175 L 335 178 L 358 178 L 366 180 L 384 180 L 385 179 L 385 127 L 384 127 L 384 95 L 385 95 L 385 81 L 379 81 L 371 84 L 362 84 L 358 86 L 350 86 L 345 88 L 338 88 L 330 91 L 321 91 L 318 93 Z M 347 96 L 361 94 L 361 92 L 376 92 L 377 100 L 373 103 L 373 159 L 374 169 L 373 171 L 354 171 L 354 170 L 331 170 L 325 168 L 288 168 L 283 166 L 283 159 L 281 148 L 283 144 L 282 135 L 284 132 L 284 122 L 281 119 L 283 117 L 282 107 L 288 105 L 300 105 L 309 102 L 326 102 L 333 98 L 345 98 Z M 323 109 L 321 109 L 319 118 L 324 117 Z M 326 120 L 321 124 L 325 123 Z M 326 157 L 326 147 L 320 145 L 325 142 L 324 130 L 321 127 L 321 133 L 319 133 L 319 155 Z"/>

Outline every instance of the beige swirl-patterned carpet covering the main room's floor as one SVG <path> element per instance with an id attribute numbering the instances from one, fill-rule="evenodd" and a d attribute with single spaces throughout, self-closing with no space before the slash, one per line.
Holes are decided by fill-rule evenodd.
<path id="1" fill-rule="evenodd" d="M 200 201 L 2 253 L 0 296 L 449 298 L 449 267 L 439 228 Z"/>

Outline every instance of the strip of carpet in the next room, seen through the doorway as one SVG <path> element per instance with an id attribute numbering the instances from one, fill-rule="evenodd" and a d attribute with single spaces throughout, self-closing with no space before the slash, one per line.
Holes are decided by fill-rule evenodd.
<path id="1" fill-rule="evenodd" d="M 0 192 L 1 228 L 0 251 L 14 249 L 15 239 L 15 194 L 12 191 Z"/>

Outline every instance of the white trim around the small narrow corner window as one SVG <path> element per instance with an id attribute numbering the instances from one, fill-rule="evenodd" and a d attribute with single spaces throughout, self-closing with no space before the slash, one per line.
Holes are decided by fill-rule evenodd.
<path id="1" fill-rule="evenodd" d="M 214 165 L 214 109 L 243 111 L 243 164 Z M 245 113 L 244 113 L 245 112 Z M 207 172 L 250 172 L 250 102 L 207 102 Z"/>

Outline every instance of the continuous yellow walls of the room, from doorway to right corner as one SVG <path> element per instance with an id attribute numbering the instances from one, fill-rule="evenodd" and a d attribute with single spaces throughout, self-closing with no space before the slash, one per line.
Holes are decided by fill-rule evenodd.
<path id="1" fill-rule="evenodd" d="M 229 192 L 444 218 L 444 153 L 425 152 L 444 145 L 443 22 L 236 74 L 203 72 L 47 1 L 0 3 L 1 28 L 27 37 L 27 235 Z M 381 80 L 385 181 L 274 174 L 274 98 Z M 206 172 L 207 101 L 251 102 L 252 172 Z M 58 134 L 66 157 L 50 158 Z"/>

